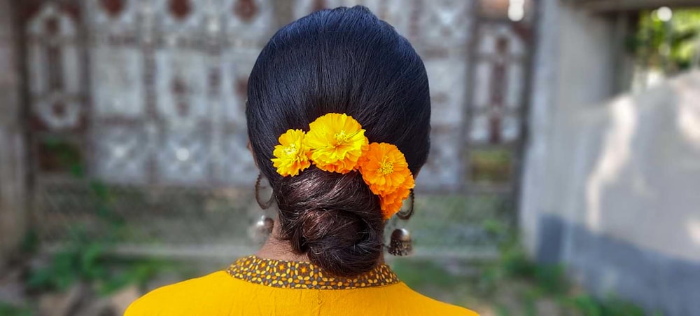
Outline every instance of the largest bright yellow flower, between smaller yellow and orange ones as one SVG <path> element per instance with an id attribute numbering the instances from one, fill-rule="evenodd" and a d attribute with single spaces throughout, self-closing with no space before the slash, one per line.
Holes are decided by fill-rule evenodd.
<path id="1" fill-rule="evenodd" d="M 358 121 L 336 113 L 325 114 L 311 122 L 304 142 L 311 150 L 311 160 L 316 167 L 343 174 L 356 169 L 368 143 Z"/>

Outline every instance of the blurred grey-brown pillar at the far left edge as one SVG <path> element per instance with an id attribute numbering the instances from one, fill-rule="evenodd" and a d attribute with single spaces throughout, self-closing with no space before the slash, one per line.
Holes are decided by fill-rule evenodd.
<path id="1" fill-rule="evenodd" d="M 0 0 L 0 267 L 25 231 L 24 136 L 10 1 Z"/>

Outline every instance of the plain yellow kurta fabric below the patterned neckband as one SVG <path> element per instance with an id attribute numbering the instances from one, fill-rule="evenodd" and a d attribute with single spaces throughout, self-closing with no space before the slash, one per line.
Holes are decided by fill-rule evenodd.
<path id="1" fill-rule="evenodd" d="M 132 303 L 125 316 L 155 315 L 477 315 L 435 301 L 403 282 L 356 289 L 291 289 L 255 284 L 225 271 L 160 289 Z"/>

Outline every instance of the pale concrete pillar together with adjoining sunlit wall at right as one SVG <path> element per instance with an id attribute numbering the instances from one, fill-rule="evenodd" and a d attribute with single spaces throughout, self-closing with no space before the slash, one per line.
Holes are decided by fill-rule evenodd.
<path id="1" fill-rule="evenodd" d="M 615 94 L 615 20 L 542 1 L 520 223 L 601 296 L 700 313 L 700 72 Z"/>

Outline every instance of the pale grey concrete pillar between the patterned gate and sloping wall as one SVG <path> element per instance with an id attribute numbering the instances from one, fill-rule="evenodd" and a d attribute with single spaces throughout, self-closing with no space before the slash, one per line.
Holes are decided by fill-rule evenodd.
<path id="1" fill-rule="evenodd" d="M 550 184 L 567 183 L 557 181 L 564 180 L 558 178 L 567 177 L 566 173 L 553 171 L 561 166 L 552 165 L 554 153 L 549 146 L 557 141 L 552 130 L 571 111 L 594 107 L 619 92 L 616 24 L 610 15 L 598 15 L 560 0 L 539 2 L 519 209 L 522 239 L 531 254 L 540 245 L 538 219 L 562 207 L 552 202 Z"/>

